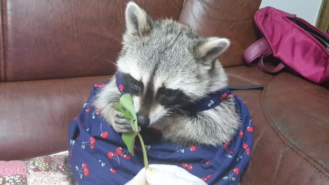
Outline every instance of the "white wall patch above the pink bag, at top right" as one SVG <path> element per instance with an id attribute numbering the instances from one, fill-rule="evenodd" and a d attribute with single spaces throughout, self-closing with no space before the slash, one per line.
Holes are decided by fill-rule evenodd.
<path id="1" fill-rule="evenodd" d="M 261 8 L 271 6 L 291 14 L 297 14 L 315 25 L 322 0 L 263 0 Z"/>

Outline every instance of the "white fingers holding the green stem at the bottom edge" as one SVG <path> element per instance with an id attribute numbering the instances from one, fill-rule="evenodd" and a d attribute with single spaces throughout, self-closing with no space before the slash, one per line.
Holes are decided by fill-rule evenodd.
<path id="1" fill-rule="evenodd" d="M 206 185 L 200 178 L 176 165 L 151 164 L 141 169 L 126 185 Z"/>

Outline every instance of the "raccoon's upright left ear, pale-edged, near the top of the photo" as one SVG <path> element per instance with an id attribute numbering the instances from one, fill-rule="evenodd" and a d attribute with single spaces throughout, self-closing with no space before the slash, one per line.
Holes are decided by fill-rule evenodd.
<path id="1" fill-rule="evenodd" d="M 134 2 L 129 2 L 125 9 L 126 32 L 142 36 L 151 29 L 151 18 Z"/>

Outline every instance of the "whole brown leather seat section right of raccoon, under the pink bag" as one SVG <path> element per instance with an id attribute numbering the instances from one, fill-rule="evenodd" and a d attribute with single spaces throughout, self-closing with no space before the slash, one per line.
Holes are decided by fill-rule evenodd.
<path id="1" fill-rule="evenodd" d="M 242 184 L 328 184 L 328 90 L 289 73 L 269 76 L 256 67 L 232 67 L 230 84 L 254 124 L 251 161 Z"/>

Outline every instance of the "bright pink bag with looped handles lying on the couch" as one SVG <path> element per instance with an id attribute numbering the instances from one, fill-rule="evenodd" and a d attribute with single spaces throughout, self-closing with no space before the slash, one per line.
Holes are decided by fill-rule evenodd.
<path id="1" fill-rule="evenodd" d="M 296 15 L 265 7 L 254 14 L 263 38 L 244 52 L 249 64 L 259 60 L 259 68 L 270 74 L 285 66 L 316 84 L 329 82 L 329 36 Z M 272 70 L 264 66 L 264 58 L 273 55 L 281 63 Z"/>

